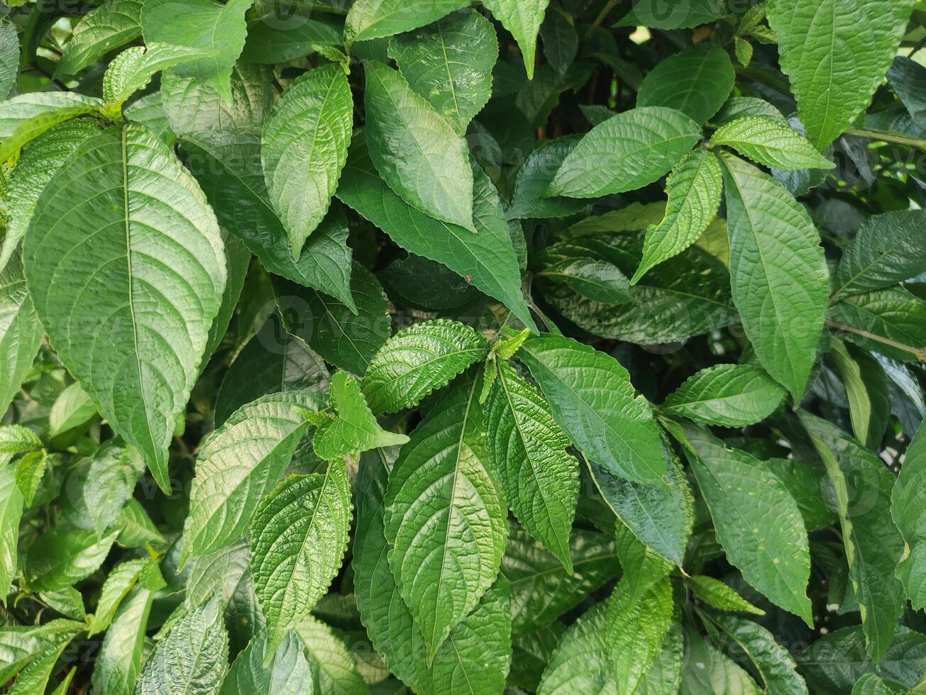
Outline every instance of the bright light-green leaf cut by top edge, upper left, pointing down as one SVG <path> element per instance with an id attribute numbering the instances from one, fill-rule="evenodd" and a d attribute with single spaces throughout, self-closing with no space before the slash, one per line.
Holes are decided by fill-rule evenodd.
<path id="1" fill-rule="evenodd" d="M 244 12 L 254 0 L 146 0 L 142 10 L 144 43 L 171 43 L 209 55 L 175 67 L 181 77 L 192 77 L 232 101 L 232 66 L 244 48 Z"/>

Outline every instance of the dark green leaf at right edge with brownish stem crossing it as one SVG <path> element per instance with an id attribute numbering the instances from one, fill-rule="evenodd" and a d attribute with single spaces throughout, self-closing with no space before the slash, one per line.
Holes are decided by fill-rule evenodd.
<path id="1" fill-rule="evenodd" d="M 885 357 L 926 358 L 926 303 L 901 287 L 850 294 L 831 304 L 827 324 L 841 338 Z"/>

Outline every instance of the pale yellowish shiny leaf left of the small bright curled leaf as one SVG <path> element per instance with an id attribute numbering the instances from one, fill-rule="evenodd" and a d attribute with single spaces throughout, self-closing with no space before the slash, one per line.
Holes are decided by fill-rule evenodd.
<path id="1" fill-rule="evenodd" d="M 257 505 L 277 484 L 320 410 L 311 391 L 287 391 L 239 408 L 203 444 L 190 490 L 180 565 L 243 537 Z"/>

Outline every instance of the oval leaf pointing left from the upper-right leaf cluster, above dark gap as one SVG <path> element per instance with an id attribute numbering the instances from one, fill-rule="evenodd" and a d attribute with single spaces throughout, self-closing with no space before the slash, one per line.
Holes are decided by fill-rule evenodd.
<path id="1" fill-rule="evenodd" d="M 665 106 L 642 106 L 595 126 L 563 160 L 546 195 L 597 198 L 658 180 L 701 137 L 691 119 Z"/>

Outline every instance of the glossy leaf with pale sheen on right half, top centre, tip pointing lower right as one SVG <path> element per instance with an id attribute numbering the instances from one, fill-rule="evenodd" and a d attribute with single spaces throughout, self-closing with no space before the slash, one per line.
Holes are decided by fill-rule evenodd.
<path id="1" fill-rule="evenodd" d="M 382 179 L 409 205 L 476 232 L 466 142 L 399 72 L 377 62 L 365 68 L 369 155 Z"/>

